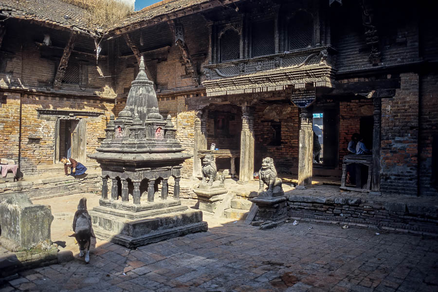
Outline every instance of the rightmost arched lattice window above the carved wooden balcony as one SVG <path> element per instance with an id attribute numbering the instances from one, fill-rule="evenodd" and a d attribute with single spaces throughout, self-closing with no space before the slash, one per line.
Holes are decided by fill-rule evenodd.
<path id="1" fill-rule="evenodd" d="M 288 50 L 298 50 L 313 46 L 313 18 L 304 11 L 297 12 L 288 25 Z"/>

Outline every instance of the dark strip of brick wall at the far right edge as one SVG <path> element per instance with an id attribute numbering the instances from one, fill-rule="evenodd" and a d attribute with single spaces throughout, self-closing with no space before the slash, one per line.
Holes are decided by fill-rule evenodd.
<path id="1" fill-rule="evenodd" d="M 432 143 L 438 140 L 438 75 L 420 75 L 420 133 L 419 133 L 419 188 L 422 196 L 437 196 L 437 185 L 433 185 Z M 437 142 L 436 142 L 437 143 Z M 438 149 L 434 149 L 438 151 Z M 438 155 L 438 153 L 434 153 Z"/>

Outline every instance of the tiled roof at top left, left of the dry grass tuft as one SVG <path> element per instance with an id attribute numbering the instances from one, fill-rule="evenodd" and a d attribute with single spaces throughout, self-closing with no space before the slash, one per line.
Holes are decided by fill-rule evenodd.
<path id="1" fill-rule="evenodd" d="M 85 22 L 87 11 L 62 0 L 0 0 L 0 15 L 94 34 Z"/>

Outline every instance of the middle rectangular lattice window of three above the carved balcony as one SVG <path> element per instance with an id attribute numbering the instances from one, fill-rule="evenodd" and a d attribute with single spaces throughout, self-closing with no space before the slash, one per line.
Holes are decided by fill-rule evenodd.
<path id="1" fill-rule="evenodd" d="M 252 55 L 263 56 L 275 53 L 274 19 L 253 23 L 252 27 Z"/>

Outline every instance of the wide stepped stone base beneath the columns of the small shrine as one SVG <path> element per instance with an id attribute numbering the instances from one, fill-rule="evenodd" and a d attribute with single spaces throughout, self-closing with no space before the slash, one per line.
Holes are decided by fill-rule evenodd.
<path id="1" fill-rule="evenodd" d="M 157 196 L 154 202 L 141 205 L 100 199 L 99 205 L 89 212 L 95 235 L 128 248 L 207 231 L 208 227 L 200 210 L 182 205 L 179 199 Z"/>

